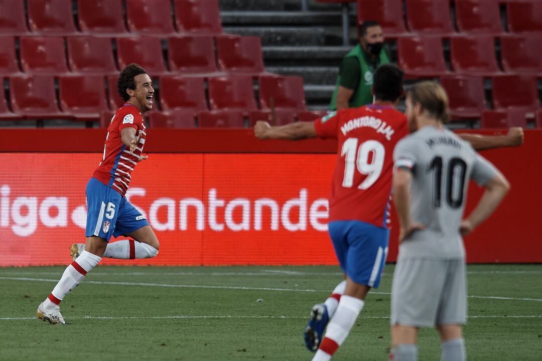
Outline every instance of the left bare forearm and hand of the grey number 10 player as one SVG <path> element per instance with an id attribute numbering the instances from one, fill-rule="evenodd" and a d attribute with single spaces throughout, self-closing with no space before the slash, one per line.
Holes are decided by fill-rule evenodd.
<path id="1" fill-rule="evenodd" d="M 397 168 L 393 173 L 393 204 L 397 211 L 399 224 L 399 243 L 403 241 L 412 232 L 418 229 L 424 229 L 425 226 L 412 222 L 410 218 L 410 183 L 412 182 L 412 173 L 410 170 Z"/>

